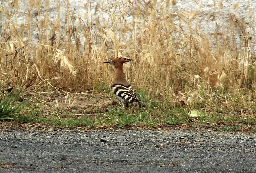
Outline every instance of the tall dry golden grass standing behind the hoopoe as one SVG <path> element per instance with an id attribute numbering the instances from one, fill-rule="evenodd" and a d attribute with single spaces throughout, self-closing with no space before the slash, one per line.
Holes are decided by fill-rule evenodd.
<path id="1" fill-rule="evenodd" d="M 206 15 L 200 9 L 188 12 L 174 8 L 170 12 L 177 1 L 166 0 L 162 10 L 157 11 L 156 1 L 139 2 L 120 1 L 113 6 L 107 1 L 110 14 L 107 24 L 100 19 L 90 20 L 89 14 L 103 13 L 98 6 L 92 9 L 90 3 L 85 3 L 86 13 L 82 17 L 73 14 L 67 1 L 68 15 L 66 22 L 61 23 L 60 0 L 53 21 L 47 13 L 49 0 L 29 1 L 23 24 L 17 20 L 19 2 L 8 1 L 6 6 L 2 3 L 2 90 L 26 83 L 34 91 L 92 90 L 111 83 L 113 69 L 101 62 L 124 56 L 134 59 L 125 66 L 128 80 L 135 89 L 145 88 L 151 99 L 173 101 L 178 88 L 186 98 L 193 94 L 193 105 L 205 100 L 214 102 L 216 93 L 222 93 L 222 101 L 228 107 L 236 105 L 233 97 L 237 97 L 254 112 L 252 13 L 248 15 L 249 22 L 230 13 L 229 28 L 204 34 L 198 30 L 200 21 L 204 20 L 199 16 Z M 42 4 L 46 8 L 44 12 Z M 215 5 L 212 8 L 223 8 L 222 3 Z M 115 8 L 123 12 L 117 15 Z M 130 15 L 132 21 L 126 21 Z M 216 13 L 211 15 L 211 19 L 217 17 Z M 31 28 L 35 25 L 38 40 L 32 42 Z"/>

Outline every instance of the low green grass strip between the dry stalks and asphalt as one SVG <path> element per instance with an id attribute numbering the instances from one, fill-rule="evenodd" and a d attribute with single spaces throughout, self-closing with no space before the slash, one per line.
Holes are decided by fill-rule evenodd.
<path id="1" fill-rule="evenodd" d="M 104 86 L 104 85 L 102 85 Z M 111 91 L 105 88 L 106 94 L 111 95 Z M 14 104 L 16 100 L 12 98 L 13 105 L 20 105 L 19 109 L 14 109 L 8 114 L 8 118 L 19 123 L 41 123 L 51 124 L 58 127 L 159 127 L 163 125 L 214 125 L 214 124 L 234 124 L 234 126 L 223 127 L 223 131 L 240 131 L 242 126 L 253 129 L 256 124 L 254 107 L 246 110 L 246 105 L 235 102 L 233 98 L 232 104 L 227 98 L 216 94 L 216 99 L 211 101 L 204 95 L 202 100 L 193 100 L 184 106 L 179 102 L 154 99 L 148 95 L 146 89 L 136 91 L 136 94 L 146 104 L 146 108 L 139 108 L 135 105 L 127 109 L 121 108 L 118 103 L 108 103 L 92 107 L 52 107 L 49 110 L 39 111 L 29 105 L 26 100 L 22 104 Z M 15 95 L 15 98 L 18 95 Z M 95 97 L 95 96 L 94 96 Z M 112 96 L 111 96 L 112 97 Z M 92 98 L 91 96 L 89 99 Z M 113 100 L 117 102 L 113 95 Z M 207 100 L 208 99 L 208 100 Z M 77 99 L 79 100 L 79 98 Z M 226 102 L 225 104 L 223 102 Z M 60 102 L 60 101 L 59 101 Z M 67 101 L 66 101 L 67 102 Z M 10 110 L 12 107 L 9 101 L 9 107 L 5 106 L 4 110 Z M 228 106 L 227 106 L 228 105 Z M 12 109 L 11 109 L 12 110 Z M 6 111 L 4 111 L 6 112 Z M 11 112 L 11 111 L 9 111 Z M 197 116 L 198 115 L 198 116 Z M 214 125 L 215 126 L 215 125 Z M 219 128 L 220 126 L 218 126 Z M 247 128 L 247 129 L 248 129 Z"/>

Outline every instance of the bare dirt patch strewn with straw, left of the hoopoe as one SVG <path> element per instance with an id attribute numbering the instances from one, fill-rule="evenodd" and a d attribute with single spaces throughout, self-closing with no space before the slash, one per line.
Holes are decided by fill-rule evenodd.
<path id="1" fill-rule="evenodd" d="M 105 111 L 115 101 L 104 92 L 93 93 L 34 93 L 33 101 L 39 102 L 39 108 L 48 113 L 73 115 L 95 114 L 95 109 Z M 64 111 L 64 112 L 63 112 Z"/>

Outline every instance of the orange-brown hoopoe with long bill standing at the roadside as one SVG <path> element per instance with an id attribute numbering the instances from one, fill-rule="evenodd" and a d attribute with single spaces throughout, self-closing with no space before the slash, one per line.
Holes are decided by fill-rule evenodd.
<path id="1" fill-rule="evenodd" d="M 128 103 L 136 102 L 139 107 L 145 107 L 144 104 L 140 103 L 139 99 L 137 98 L 132 86 L 127 82 L 125 79 L 124 71 L 123 71 L 123 64 L 126 62 L 132 61 L 132 59 L 127 58 L 115 58 L 112 61 L 106 61 L 103 63 L 110 63 L 114 65 L 115 72 L 114 72 L 114 79 L 111 84 L 111 89 L 116 94 L 116 97 L 119 100 L 120 105 L 124 108 L 124 102 L 126 103 L 125 107 L 128 107 Z"/>

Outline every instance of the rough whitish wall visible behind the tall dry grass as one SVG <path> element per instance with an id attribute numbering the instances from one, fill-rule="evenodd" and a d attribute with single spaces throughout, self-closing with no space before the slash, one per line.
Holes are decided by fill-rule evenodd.
<path id="1" fill-rule="evenodd" d="M 218 30 L 219 32 L 222 32 L 222 28 L 226 28 L 228 29 L 228 25 L 229 25 L 229 21 L 230 21 L 230 14 L 236 14 L 238 19 L 244 19 L 246 23 L 249 23 L 251 21 L 253 21 L 255 19 L 255 14 L 253 14 L 252 18 L 249 19 L 248 18 L 248 13 L 249 13 L 249 8 L 251 9 L 251 11 L 253 12 L 256 9 L 256 1 L 254 0 L 222 0 L 224 8 L 223 9 L 219 9 L 219 3 L 221 0 L 215 0 L 216 3 L 216 8 L 214 8 L 214 1 L 213 0 L 177 0 L 177 4 L 175 6 L 173 6 L 172 4 L 170 4 L 170 12 L 174 12 L 175 11 L 185 11 L 188 14 L 191 13 L 191 11 L 194 10 L 199 10 L 201 11 L 196 17 L 199 17 L 200 20 L 199 25 L 198 25 L 198 29 L 200 32 L 206 32 L 208 34 L 212 33 L 215 31 L 216 29 L 216 23 L 218 25 Z M 11 1 L 9 1 L 10 3 Z M 20 26 L 22 23 L 26 24 L 27 21 L 27 16 L 28 16 L 28 0 L 19 0 L 19 8 L 17 10 L 17 22 L 18 22 L 18 26 Z M 35 1 L 36 2 L 36 1 Z M 36 7 L 33 7 L 31 15 L 32 15 L 32 19 L 31 19 L 31 28 L 32 28 L 32 34 L 31 34 L 31 41 L 32 42 L 37 42 L 38 41 L 38 30 L 36 28 L 36 19 L 40 20 L 40 19 L 44 19 L 44 15 L 48 12 L 49 15 L 49 19 L 52 21 L 52 25 L 51 27 L 53 27 L 55 21 L 57 20 L 57 6 L 59 3 L 59 0 L 50 0 L 50 4 L 49 4 L 49 9 L 48 11 L 45 8 L 45 0 L 39 0 L 41 8 L 40 8 L 40 15 L 37 15 L 37 10 Z M 86 18 L 86 13 L 87 10 L 85 10 L 84 8 L 84 4 L 86 2 L 90 2 L 90 8 L 92 9 L 92 11 L 88 12 L 88 19 Z M 130 0 L 130 2 L 132 2 L 132 0 Z M 143 1 L 141 0 L 134 0 L 134 2 L 136 2 L 137 4 L 143 4 L 143 6 L 146 6 L 146 4 L 143 3 Z M 146 1 L 144 1 L 146 2 Z M 148 2 L 148 1 L 147 1 Z M 197 2 L 197 3 L 196 3 Z M 237 11 L 234 11 L 233 6 L 234 4 L 236 4 L 237 2 L 239 2 L 239 6 Z M 248 2 L 250 4 L 250 7 L 248 7 Z M 113 4 L 112 9 L 109 10 L 108 8 L 108 3 L 110 4 L 110 6 Z M 170 1 L 171 3 L 171 1 Z M 8 9 L 8 1 L 7 0 L 2 0 L 1 1 L 1 5 L 2 5 L 2 9 L 5 11 L 6 9 Z M 113 12 L 114 10 L 114 6 L 115 5 L 120 5 L 123 6 L 122 4 L 126 4 L 124 5 L 124 7 L 127 7 L 127 4 L 129 4 L 128 0 L 89 0 L 89 1 L 84 1 L 84 0 L 69 0 L 69 9 L 70 9 L 70 14 L 74 14 L 76 16 L 80 16 L 84 21 L 89 21 L 90 24 L 92 24 L 92 26 L 95 26 L 95 21 L 96 19 L 100 20 L 100 24 L 101 25 L 105 25 L 107 27 L 111 27 L 112 23 L 109 20 L 109 16 L 110 16 L 110 11 Z M 150 3 L 148 3 L 150 4 Z M 65 26 L 65 22 L 66 22 L 66 18 L 67 18 L 67 0 L 60 0 L 60 21 L 61 24 L 63 26 Z M 166 6 L 166 1 L 157 1 L 156 4 L 156 9 L 158 11 L 164 10 Z M 200 9 L 201 6 L 201 9 Z M 98 10 L 95 11 L 95 8 L 97 7 Z M 141 11 L 143 13 L 143 8 L 142 5 L 140 5 L 141 7 Z M 101 13 L 101 10 L 103 9 L 103 13 Z M 126 22 L 128 24 L 132 23 L 132 9 L 136 9 L 136 5 L 134 4 L 133 6 L 130 5 L 129 7 L 126 8 L 127 13 L 124 15 L 124 19 L 126 20 Z M 120 13 L 122 13 L 125 9 L 124 8 L 117 8 L 116 9 L 116 16 L 118 16 Z M 92 15 L 91 15 L 92 12 Z M 215 14 L 215 18 L 214 20 L 212 20 L 213 18 L 210 17 L 208 19 L 209 16 Z M 149 13 L 150 15 L 150 13 Z M 188 15 L 189 16 L 189 15 Z M 148 19 L 150 17 L 148 16 Z M 175 18 L 174 18 L 175 19 Z M 4 22 L 4 20 L 6 21 L 7 19 L 5 18 L 5 13 L 2 13 L 2 22 Z M 139 19 L 142 20 L 142 19 Z M 11 23 L 16 23 L 15 22 L 15 18 L 14 18 L 14 10 L 12 11 L 12 15 L 11 15 L 11 19 L 10 19 Z M 178 23 L 178 18 L 176 18 L 176 23 Z M 78 24 L 78 21 L 77 23 Z M 193 26 L 195 27 L 196 24 L 196 20 L 193 20 Z M 4 25 L 4 23 L 2 23 L 2 25 Z M 188 28 L 184 28 L 184 29 L 188 29 Z M 249 30 L 247 30 L 247 32 L 249 32 Z M 254 35 L 256 34 L 255 31 L 255 22 L 253 23 L 253 27 L 252 27 L 252 39 L 254 40 L 255 43 L 255 37 Z"/>

